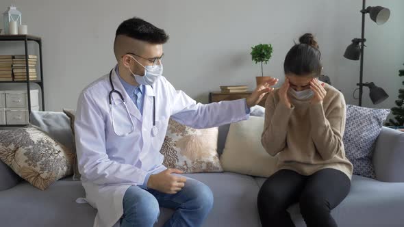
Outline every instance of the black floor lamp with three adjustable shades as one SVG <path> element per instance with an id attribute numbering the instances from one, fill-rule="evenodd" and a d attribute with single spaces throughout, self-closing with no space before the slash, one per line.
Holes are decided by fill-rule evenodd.
<path id="1" fill-rule="evenodd" d="M 388 8 L 383 8 L 381 6 L 369 6 L 366 8 L 366 0 L 362 2 L 362 36 L 361 38 L 354 38 L 352 43 L 346 47 L 344 57 L 351 60 L 359 60 L 360 59 L 360 72 L 359 72 L 359 107 L 362 106 L 362 93 L 363 87 L 369 88 L 369 96 L 372 100 L 373 104 L 378 104 L 386 100 L 388 98 L 388 94 L 383 90 L 383 88 L 379 88 L 375 85 L 375 83 L 363 83 L 364 76 L 364 46 L 365 46 L 365 14 L 369 13 L 372 21 L 375 21 L 377 25 L 383 25 L 388 21 L 390 17 L 390 10 Z M 359 46 L 360 44 L 360 46 Z"/>

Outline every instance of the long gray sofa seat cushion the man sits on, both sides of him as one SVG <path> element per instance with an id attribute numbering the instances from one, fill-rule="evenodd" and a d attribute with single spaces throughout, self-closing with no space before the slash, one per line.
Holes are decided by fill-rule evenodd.
<path id="1" fill-rule="evenodd" d="M 258 227 L 260 219 L 256 199 L 258 186 L 254 178 L 229 172 L 184 174 L 205 183 L 214 193 L 214 207 L 204 227 Z M 84 197 L 80 182 L 64 178 L 40 191 L 21 183 L 0 193 L 0 219 L 4 226 L 88 227 L 97 213 L 89 204 L 77 204 Z M 173 214 L 171 209 L 160 209 L 155 227 L 163 226 Z M 22 218 L 23 217 L 23 218 Z"/>

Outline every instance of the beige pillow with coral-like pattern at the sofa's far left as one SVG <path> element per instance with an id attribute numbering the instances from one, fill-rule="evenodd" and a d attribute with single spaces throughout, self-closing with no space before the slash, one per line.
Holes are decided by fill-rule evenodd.
<path id="1" fill-rule="evenodd" d="M 36 126 L 0 131 L 1 161 L 38 189 L 73 174 L 74 156 Z"/>

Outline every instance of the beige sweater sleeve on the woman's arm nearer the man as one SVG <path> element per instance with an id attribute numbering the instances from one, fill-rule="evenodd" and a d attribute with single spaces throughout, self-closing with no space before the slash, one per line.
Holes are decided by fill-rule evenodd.
<path id="1" fill-rule="evenodd" d="M 275 156 L 285 148 L 288 123 L 293 109 L 293 106 L 288 108 L 283 103 L 275 105 L 275 92 L 266 98 L 261 143 L 269 155 Z"/>

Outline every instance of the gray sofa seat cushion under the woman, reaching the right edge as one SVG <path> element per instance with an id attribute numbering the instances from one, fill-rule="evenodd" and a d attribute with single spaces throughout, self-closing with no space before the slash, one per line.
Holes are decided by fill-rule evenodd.
<path id="1" fill-rule="evenodd" d="M 255 178 L 261 187 L 266 178 Z M 385 183 L 353 175 L 351 191 L 331 211 L 338 226 L 403 226 L 404 183 Z M 305 226 L 298 204 L 288 209 L 296 227 Z"/>

